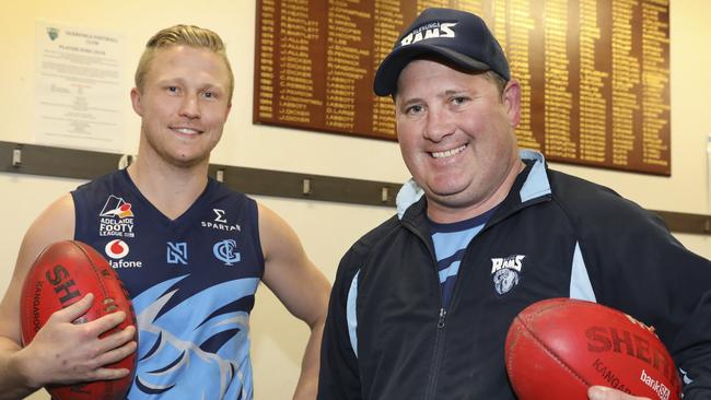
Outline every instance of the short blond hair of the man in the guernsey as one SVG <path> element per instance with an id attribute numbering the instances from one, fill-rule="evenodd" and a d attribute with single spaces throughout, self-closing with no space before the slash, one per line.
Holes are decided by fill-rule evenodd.
<path id="1" fill-rule="evenodd" d="M 138 61 L 138 68 L 136 69 L 136 87 L 138 87 L 139 91 L 143 90 L 143 85 L 145 84 L 145 74 L 148 73 L 151 60 L 153 59 L 153 56 L 155 56 L 156 51 L 179 45 L 210 50 L 224 61 L 230 78 L 230 96 L 228 98 L 232 98 L 234 75 L 232 74 L 232 67 L 230 67 L 230 60 L 228 60 L 228 52 L 222 38 L 210 30 L 195 25 L 175 25 L 166 27 L 148 40 L 143 55 L 141 55 L 141 59 Z"/>

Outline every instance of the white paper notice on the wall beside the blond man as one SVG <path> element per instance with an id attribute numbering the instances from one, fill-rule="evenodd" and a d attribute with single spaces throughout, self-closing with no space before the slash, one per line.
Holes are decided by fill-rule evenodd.
<path id="1" fill-rule="evenodd" d="M 124 151 L 123 37 L 37 21 L 35 142 Z"/>

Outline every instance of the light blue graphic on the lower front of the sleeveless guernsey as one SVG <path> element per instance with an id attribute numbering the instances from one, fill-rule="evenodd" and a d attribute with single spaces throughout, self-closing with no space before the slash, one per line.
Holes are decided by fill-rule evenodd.
<path id="1" fill-rule="evenodd" d="M 128 398 L 150 399 L 151 395 L 170 392 L 172 399 L 250 399 L 252 388 L 245 385 L 252 381 L 249 315 L 236 307 L 242 298 L 225 294 L 254 293 L 259 280 L 225 282 L 164 311 L 176 291 L 173 285 L 186 278 L 163 282 L 133 298 L 141 330 L 141 363 Z M 221 298 L 210 292 L 221 294 Z M 170 318 L 172 313 L 180 316 L 179 326 Z M 199 327 L 203 327 L 200 336 L 193 337 Z M 235 354 L 236 360 L 247 362 L 237 364 Z M 206 374 L 219 376 L 219 385 L 195 385 L 205 381 Z"/>

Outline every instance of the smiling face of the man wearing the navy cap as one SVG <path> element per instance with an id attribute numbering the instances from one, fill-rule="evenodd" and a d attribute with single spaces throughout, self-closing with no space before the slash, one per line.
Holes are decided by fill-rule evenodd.
<path id="1" fill-rule="evenodd" d="M 397 138 L 433 221 L 471 217 L 505 198 L 522 166 L 514 132 L 520 96 L 513 80 L 501 94 L 483 73 L 431 60 L 403 70 L 395 97 Z"/>

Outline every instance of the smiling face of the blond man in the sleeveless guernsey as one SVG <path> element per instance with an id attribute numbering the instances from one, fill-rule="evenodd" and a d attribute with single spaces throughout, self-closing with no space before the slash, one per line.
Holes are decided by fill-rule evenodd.
<path id="1" fill-rule="evenodd" d="M 207 165 L 230 113 L 229 87 L 228 67 L 214 52 L 185 45 L 156 50 L 143 87 L 131 91 L 141 116 L 140 157 Z"/>

